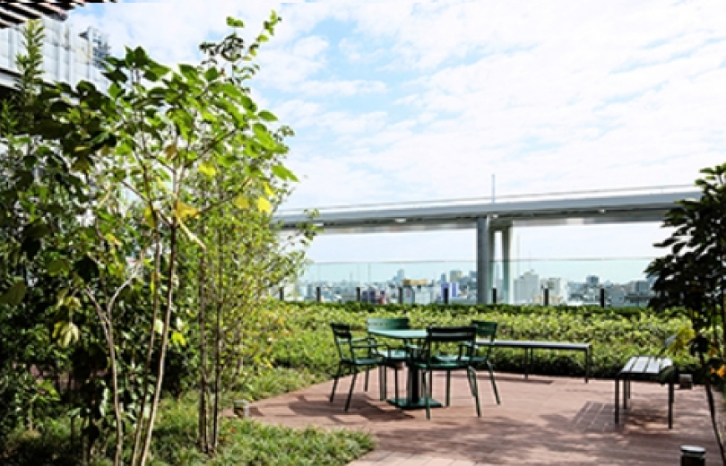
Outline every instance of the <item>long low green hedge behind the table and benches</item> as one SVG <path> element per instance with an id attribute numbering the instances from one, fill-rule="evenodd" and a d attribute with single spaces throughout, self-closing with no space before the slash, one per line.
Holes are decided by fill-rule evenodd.
<path id="1" fill-rule="evenodd" d="M 365 303 L 319 304 L 290 303 L 290 339 L 278 341 L 273 352 L 278 365 L 305 368 L 332 376 L 338 358 L 330 331 L 331 322 L 352 324 L 365 331 L 371 316 L 408 315 L 411 325 L 468 324 L 471 320 L 499 323 L 497 338 L 503 340 L 545 340 L 592 343 L 593 377 L 610 378 L 618 373 L 627 358 L 660 354 L 663 342 L 678 329 L 689 325 L 677 311 L 657 315 L 644 308 L 605 308 L 597 306 L 375 306 Z M 696 359 L 670 355 L 679 370 L 696 374 Z M 524 351 L 493 351 L 497 370 L 523 372 Z M 584 374 L 582 352 L 538 350 L 532 372 L 542 375 Z"/>

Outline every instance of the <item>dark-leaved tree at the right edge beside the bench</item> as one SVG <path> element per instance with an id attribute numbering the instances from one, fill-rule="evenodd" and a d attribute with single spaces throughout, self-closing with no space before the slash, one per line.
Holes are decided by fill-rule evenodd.
<path id="1" fill-rule="evenodd" d="M 670 253 L 655 259 L 646 272 L 657 279 L 651 306 L 685 306 L 696 333 L 688 346 L 701 363 L 713 432 L 726 453 L 713 400 L 713 385 L 722 386 L 726 370 L 726 164 L 701 170 L 696 180 L 700 199 L 685 200 L 668 211 L 664 228 L 675 230 L 655 245 Z"/>

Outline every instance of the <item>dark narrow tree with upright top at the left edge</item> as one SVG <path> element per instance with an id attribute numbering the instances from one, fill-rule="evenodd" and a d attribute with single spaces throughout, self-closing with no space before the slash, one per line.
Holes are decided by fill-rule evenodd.
<path id="1" fill-rule="evenodd" d="M 56 268 L 71 248 L 67 238 L 80 226 L 83 183 L 56 144 L 29 134 L 40 119 L 43 38 L 30 22 L 16 58 L 20 77 L 0 109 L 0 444 L 19 422 L 33 429 L 36 411 L 56 406 L 69 363 L 68 351 L 50 344 L 53 290 L 62 286 Z M 75 334 L 58 326 L 54 336 Z"/>

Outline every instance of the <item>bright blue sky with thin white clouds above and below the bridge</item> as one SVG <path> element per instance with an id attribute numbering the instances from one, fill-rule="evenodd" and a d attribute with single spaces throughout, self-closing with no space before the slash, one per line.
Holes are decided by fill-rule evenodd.
<path id="1" fill-rule="evenodd" d="M 486 197 L 492 175 L 497 197 L 692 185 L 724 161 L 722 0 L 122 0 L 69 21 L 108 32 L 115 53 L 141 45 L 173 65 L 197 62 L 200 42 L 229 31 L 227 16 L 252 39 L 272 9 L 282 22 L 252 88 L 296 133 L 289 166 L 300 183 L 286 209 Z M 657 224 L 523 228 L 514 256 L 535 268 L 642 263 L 667 234 Z M 309 255 L 473 261 L 475 234 L 323 235 Z M 607 273 L 640 270 L 623 263 Z"/>

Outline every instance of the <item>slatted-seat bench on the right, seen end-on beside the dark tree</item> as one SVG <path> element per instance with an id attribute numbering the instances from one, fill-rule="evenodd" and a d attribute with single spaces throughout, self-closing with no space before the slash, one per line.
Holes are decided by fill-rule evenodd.
<path id="1" fill-rule="evenodd" d="M 615 377 L 615 424 L 620 422 L 620 380 L 623 381 L 623 410 L 630 399 L 630 382 L 633 380 L 659 380 L 668 382 L 668 428 L 673 428 L 673 383 L 676 370 L 670 358 L 634 356 Z"/>

